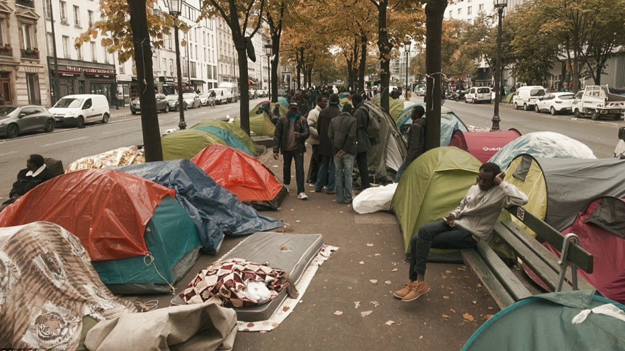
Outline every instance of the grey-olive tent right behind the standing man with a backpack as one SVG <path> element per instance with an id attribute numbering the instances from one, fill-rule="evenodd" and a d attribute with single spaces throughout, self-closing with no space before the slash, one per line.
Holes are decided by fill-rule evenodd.
<path id="1" fill-rule="evenodd" d="M 402 139 L 401 133 L 391 116 L 384 112 L 381 107 L 370 101 L 363 102 L 363 106 L 369 111 L 369 114 L 374 114 L 380 122 L 380 142 L 367 150 L 369 174 L 373 175 L 374 179 L 392 182 L 394 174 L 406 158 L 406 142 Z"/>

